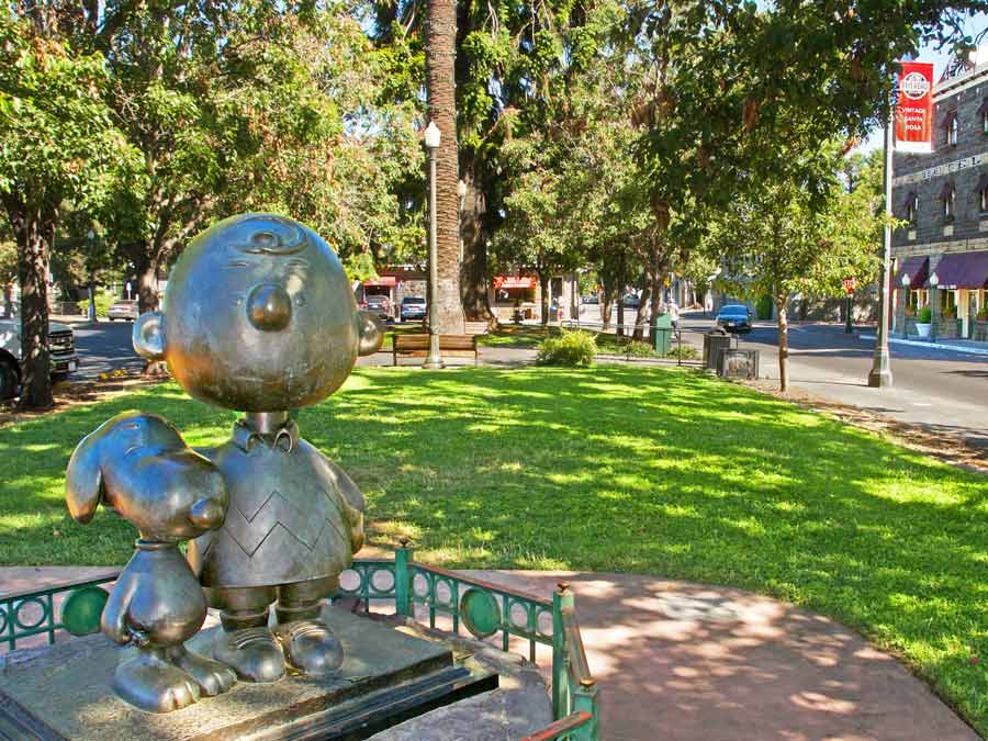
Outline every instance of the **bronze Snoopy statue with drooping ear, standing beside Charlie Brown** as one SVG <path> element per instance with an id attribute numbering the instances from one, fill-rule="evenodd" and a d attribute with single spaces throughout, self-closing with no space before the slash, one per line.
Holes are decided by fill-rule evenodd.
<path id="1" fill-rule="evenodd" d="M 206 599 L 178 543 L 223 525 L 223 476 L 162 417 L 124 412 L 86 437 L 66 475 L 69 513 L 86 524 L 102 503 L 141 534 L 103 609 L 102 629 L 137 654 L 113 688 L 143 710 L 168 712 L 229 689 L 227 666 L 184 647 L 202 627 Z"/>

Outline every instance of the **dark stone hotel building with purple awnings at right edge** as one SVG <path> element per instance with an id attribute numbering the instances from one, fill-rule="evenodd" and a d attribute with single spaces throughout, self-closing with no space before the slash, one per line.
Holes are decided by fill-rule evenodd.
<path id="1" fill-rule="evenodd" d="M 988 340 L 988 48 L 955 64 L 933 88 L 932 155 L 896 153 L 892 333 Z"/>

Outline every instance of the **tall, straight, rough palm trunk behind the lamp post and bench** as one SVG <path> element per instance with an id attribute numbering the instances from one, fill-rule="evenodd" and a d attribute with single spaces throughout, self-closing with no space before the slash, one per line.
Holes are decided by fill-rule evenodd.
<path id="1" fill-rule="evenodd" d="M 426 35 L 428 114 L 441 133 L 436 162 L 436 224 L 438 284 L 437 322 L 440 334 L 462 334 L 460 301 L 460 203 L 457 194 L 456 0 L 429 0 Z"/>

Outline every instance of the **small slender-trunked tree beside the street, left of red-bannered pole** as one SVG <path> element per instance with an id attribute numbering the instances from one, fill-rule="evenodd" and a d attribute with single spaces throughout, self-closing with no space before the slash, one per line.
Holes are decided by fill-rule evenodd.
<path id="1" fill-rule="evenodd" d="M 884 220 L 877 215 L 877 179 L 844 191 L 835 178 L 840 156 L 831 158 L 829 172 L 812 180 L 826 182 L 824 192 L 810 189 L 809 181 L 765 181 L 719 213 L 705 246 L 722 260 L 721 287 L 751 300 L 772 296 L 783 392 L 789 385 L 790 295 L 839 295 L 843 278 L 868 282 L 878 269 L 874 246 Z"/>

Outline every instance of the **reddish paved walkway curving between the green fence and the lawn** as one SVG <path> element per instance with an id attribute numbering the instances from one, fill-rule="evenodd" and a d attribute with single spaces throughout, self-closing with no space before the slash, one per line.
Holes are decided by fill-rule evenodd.
<path id="1" fill-rule="evenodd" d="M 0 594 L 105 571 L 0 568 Z M 467 573 L 541 595 L 571 584 L 608 741 L 978 738 L 891 656 L 785 603 L 629 574 Z"/>

